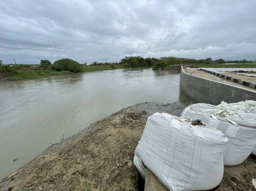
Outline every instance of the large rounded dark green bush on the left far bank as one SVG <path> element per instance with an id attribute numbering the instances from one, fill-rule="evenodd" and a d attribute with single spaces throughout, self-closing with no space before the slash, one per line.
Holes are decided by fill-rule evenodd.
<path id="1" fill-rule="evenodd" d="M 56 71 L 68 70 L 71 72 L 81 72 L 82 65 L 74 60 L 63 58 L 52 64 L 52 69 Z"/>

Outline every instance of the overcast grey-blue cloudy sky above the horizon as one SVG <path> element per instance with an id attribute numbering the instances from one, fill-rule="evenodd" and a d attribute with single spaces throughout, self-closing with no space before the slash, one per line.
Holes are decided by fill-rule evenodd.
<path id="1" fill-rule="evenodd" d="M 255 0 L 0 0 L 4 63 L 256 59 Z"/>

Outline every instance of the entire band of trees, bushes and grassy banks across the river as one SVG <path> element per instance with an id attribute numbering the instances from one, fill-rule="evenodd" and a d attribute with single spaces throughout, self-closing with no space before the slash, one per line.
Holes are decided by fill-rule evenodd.
<path id="1" fill-rule="evenodd" d="M 151 67 L 153 70 L 178 70 L 180 65 L 192 65 L 190 67 L 213 67 L 213 68 L 256 68 L 256 64 L 248 63 L 245 59 L 237 61 L 239 63 L 222 64 L 226 62 L 223 59 L 212 61 L 212 58 L 189 59 L 177 57 L 142 58 L 141 56 L 125 56 L 119 63 L 96 62 L 87 65 L 80 64 L 74 60 L 64 58 L 55 61 L 53 64 L 49 60 L 41 60 L 40 64 L 2 64 L 0 60 L 0 79 L 19 80 L 35 79 L 39 77 L 48 77 L 61 74 L 72 74 L 78 72 L 91 72 L 100 70 L 113 70 L 123 67 Z"/>

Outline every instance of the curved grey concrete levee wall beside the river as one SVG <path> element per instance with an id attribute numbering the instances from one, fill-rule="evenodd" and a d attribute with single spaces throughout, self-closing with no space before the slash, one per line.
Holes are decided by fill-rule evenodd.
<path id="1" fill-rule="evenodd" d="M 190 99 L 200 103 L 219 105 L 221 101 L 235 103 L 256 100 L 256 92 L 229 84 L 193 76 L 180 69 L 180 88 Z"/>

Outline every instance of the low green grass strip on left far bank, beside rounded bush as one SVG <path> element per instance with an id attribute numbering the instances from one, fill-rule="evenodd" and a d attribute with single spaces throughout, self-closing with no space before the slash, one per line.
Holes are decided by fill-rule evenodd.
<path id="1" fill-rule="evenodd" d="M 6 80 L 24 80 L 36 79 L 40 77 L 57 76 L 62 74 L 73 74 L 70 71 L 55 71 L 55 70 L 18 70 L 17 73 L 5 77 Z"/>

